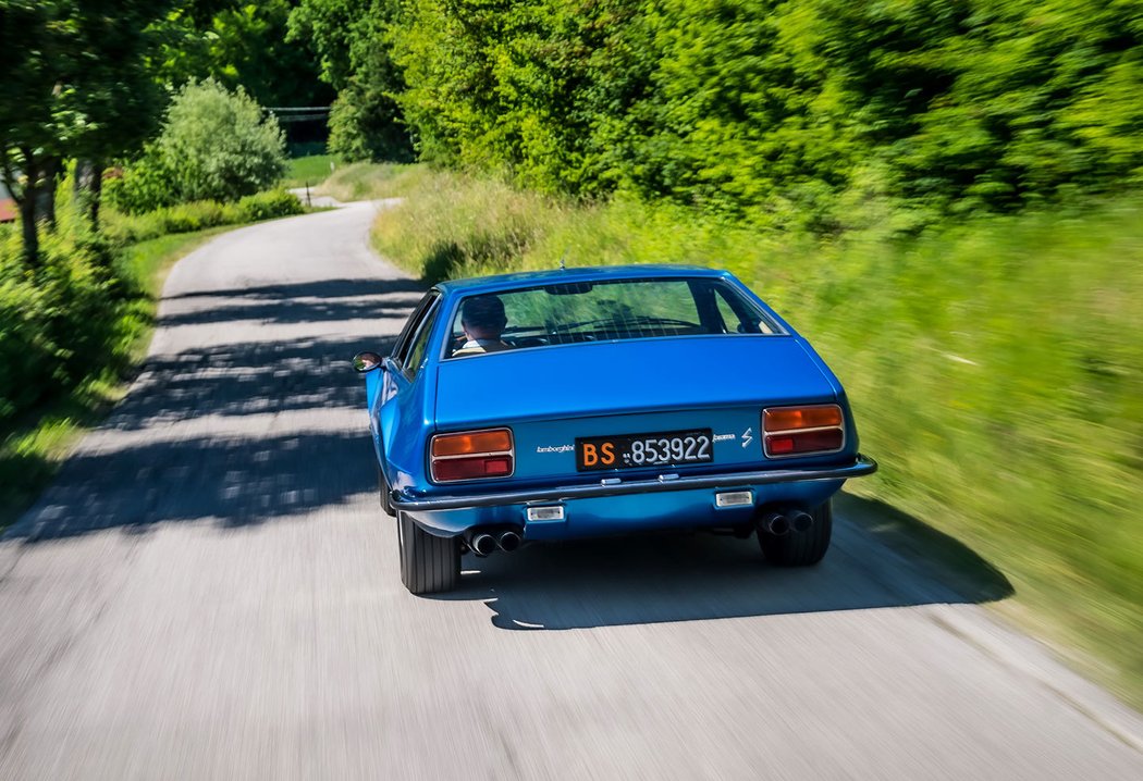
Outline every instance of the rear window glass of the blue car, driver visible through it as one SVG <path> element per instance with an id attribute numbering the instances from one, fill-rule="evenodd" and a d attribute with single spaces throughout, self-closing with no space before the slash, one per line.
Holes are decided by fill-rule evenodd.
<path id="1" fill-rule="evenodd" d="M 583 341 L 780 332 L 757 304 L 718 279 L 573 282 L 461 299 L 446 357 Z"/>

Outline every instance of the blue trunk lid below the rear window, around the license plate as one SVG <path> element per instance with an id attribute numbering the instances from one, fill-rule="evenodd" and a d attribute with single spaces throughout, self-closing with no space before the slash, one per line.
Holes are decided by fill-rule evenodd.
<path id="1" fill-rule="evenodd" d="M 711 472 L 764 461 L 764 405 L 834 398 L 830 379 L 793 337 L 582 344 L 442 362 L 437 428 L 511 427 L 518 480 L 607 477 L 577 470 L 577 437 L 710 429 L 711 462 L 622 474 Z"/>

